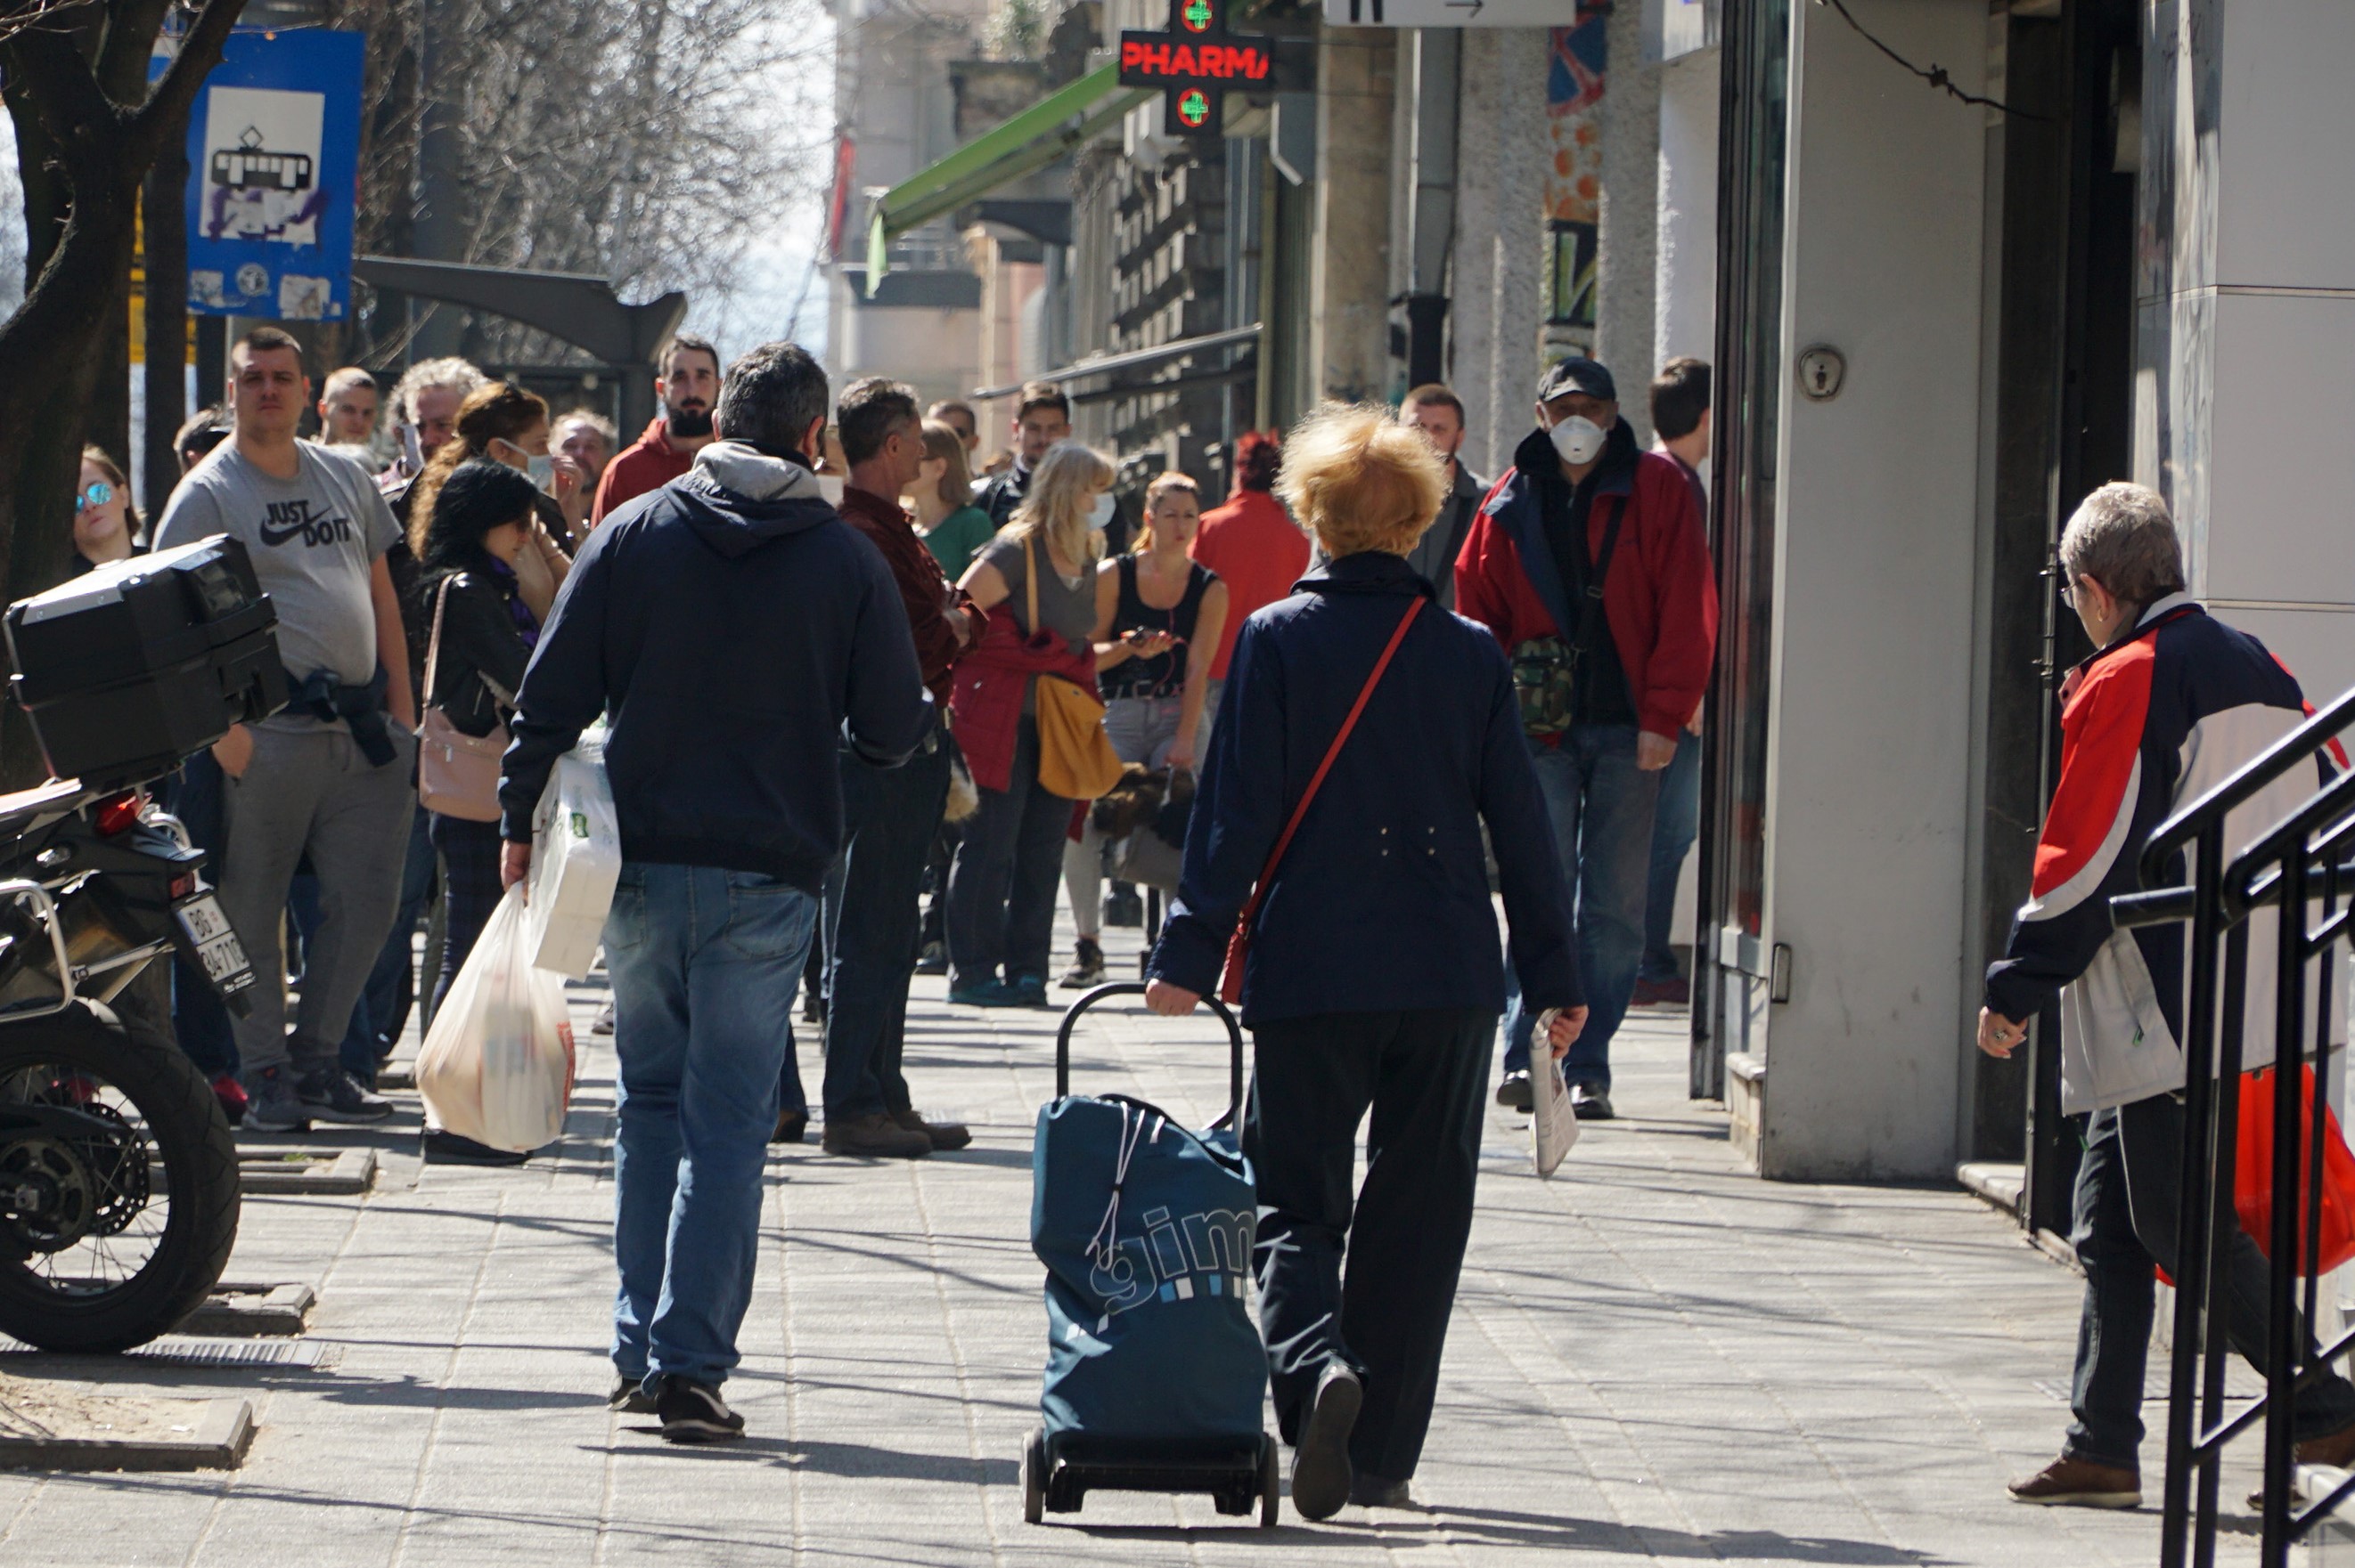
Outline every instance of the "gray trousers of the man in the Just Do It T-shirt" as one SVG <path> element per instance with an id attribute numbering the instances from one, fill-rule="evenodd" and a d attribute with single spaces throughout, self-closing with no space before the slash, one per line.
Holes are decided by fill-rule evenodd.
<path id="1" fill-rule="evenodd" d="M 245 1076 L 337 1064 L 351 1008 L 367 986 L 400 904 L 410 848 L 417 742 L 393 727 L 398 756 L 370 768 L 346 730 L 254 730 L 254 760 L 228 779 L 221 911 L 254 965 L 254 1008 L 236 1019 Z M 304 961 L 301 1008 L 287 1038 L 280 916 L 294 866 L 318 873 L 318 937 Z"/>

